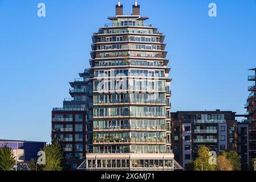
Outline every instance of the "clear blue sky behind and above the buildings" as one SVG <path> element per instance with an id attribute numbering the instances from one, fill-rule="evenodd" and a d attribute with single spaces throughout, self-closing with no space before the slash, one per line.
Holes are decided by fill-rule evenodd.
<path id="1" fill-rule="evenodd" d="M 37 5 L 46 4 L 38 18 Z M 121 0 L 131 13 L 133 0 Z M 210 2 L 217 18 L 208 16 Z M 0 0 L 0 138 L 50 142 L 51 109 L 88 68 L 91 35 L 117 0 Z M 255 0 L 138 0 L 166 35 L 172 107 L 245 113 L 247 69 L 256 67 Z"/>

